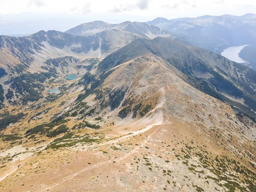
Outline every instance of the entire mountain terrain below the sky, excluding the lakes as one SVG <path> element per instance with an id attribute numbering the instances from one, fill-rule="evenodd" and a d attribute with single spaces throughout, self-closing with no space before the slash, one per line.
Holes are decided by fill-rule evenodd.
<path id="1" fill-rule="evenodd" d="M 246 14 L 1 35 L 1 191 L 256 191 L 256 71 L 220 55 L 251 44 L 253 64 L 255 29 Z"/>

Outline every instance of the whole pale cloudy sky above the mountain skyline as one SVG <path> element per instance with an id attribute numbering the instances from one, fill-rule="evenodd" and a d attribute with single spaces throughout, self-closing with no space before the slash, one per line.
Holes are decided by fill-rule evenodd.
<path id="1" fill-rule="evenodd" d="M 256 14 L 256 0 L 0 0 L 0 35 L 66 31 L 93 20 L 143 22 L 246 13 Z"/>

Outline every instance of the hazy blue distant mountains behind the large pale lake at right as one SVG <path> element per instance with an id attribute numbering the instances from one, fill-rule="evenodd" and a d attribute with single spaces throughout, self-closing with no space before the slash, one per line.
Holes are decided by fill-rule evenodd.
<path id="1" fill-rule="evenodd" d="M 227 47 L 256 43 L 256 15 L 254 14 L 240 17 L 205 15 L 173 20 L 156 18 L 147 23 L 175 32 L 188 39 L 189 44 L 218 54 Z"/>

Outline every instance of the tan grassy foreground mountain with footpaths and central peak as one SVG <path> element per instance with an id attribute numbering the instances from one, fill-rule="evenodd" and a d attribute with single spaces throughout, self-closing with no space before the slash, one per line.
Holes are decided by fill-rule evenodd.
<path id="1" fill-rule="evenodd" d="M 6 128 L 1 189 L 255 190 L 255 123 L 183 78 L 147 55 L 65 85 Z"/>

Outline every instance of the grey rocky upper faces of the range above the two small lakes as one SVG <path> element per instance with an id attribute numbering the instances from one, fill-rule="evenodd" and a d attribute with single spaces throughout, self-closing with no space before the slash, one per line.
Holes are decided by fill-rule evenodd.
<path id="1" fill-rule="evenodd" d="M 20 61 L 29 64 L 35 52 L 40 52 L 45 44 L 57 49 L 64 48 L 79 54 L 93 54 L 101 57 L 130 43 L 136 38 L 142 38 L 128 32 L 109 30 L 92 36 L 75 36 L 58 31 L 40 31 L 27 37 L 0 36 L 0 48 L 9 49 Z M 47 49 L 47 48 L 46 48 Z M 67 50 L 63 50 L 66 52 Z"/>

